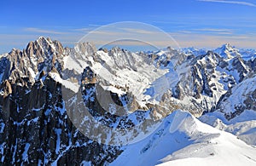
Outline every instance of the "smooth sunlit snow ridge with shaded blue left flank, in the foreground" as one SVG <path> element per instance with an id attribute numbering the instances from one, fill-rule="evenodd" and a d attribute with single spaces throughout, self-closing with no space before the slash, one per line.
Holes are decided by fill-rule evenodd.
<path id="1" fill-rule="evenodd" d="M 255 165 L 256 149 L 176 111 L 146 140 L 124 146 L 111 165 Z"/>

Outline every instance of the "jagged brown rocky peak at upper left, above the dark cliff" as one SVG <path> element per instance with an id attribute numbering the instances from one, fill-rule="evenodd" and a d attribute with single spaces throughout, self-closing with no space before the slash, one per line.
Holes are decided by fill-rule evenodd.
<path id="1" fill-rule="evenodd" d="M 0 63 L 5 66 L 1 81 L 10 79 L 11 83 L 25 85 L 20 80 L 27 79 L 34 83 L 35 76 L 40 72 L 50 72 L 53 67 L 61 71 L 64 56 L 61 43 L 39 37 L 35 42 L 28 43 L 26 49 L 13 49 L 8 56 L 1 59 Z"/>

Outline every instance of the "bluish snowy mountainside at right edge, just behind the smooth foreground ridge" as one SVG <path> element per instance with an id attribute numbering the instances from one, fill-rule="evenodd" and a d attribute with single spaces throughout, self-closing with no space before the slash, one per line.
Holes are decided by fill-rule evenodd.
<path id="1" fill-rule="evenodd" d="M 219 101 L 215 112 L 200 117 L 201 122 L 230 132 L 247 144 L 256 146 L 255 83 L 254 76 L 237 84 Z"/>

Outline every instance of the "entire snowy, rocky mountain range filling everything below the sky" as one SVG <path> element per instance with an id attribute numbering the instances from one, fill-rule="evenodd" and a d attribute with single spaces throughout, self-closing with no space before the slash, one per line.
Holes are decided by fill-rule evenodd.
<path id="1" fill-rule="evenodd" d="M 255 149 L 241 140 L 256 145 L 255 53 L 230 44 L 137 53 L 91 43 L 64 48 L 39 37 L 0 58 L 0 160 L 253 164 Z"/>

